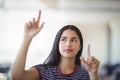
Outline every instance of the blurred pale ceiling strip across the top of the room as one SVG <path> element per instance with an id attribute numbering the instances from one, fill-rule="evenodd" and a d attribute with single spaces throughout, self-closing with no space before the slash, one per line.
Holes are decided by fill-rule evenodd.
<path id="1" fill-rule="evenodd" d="M 0 0 L 5 9 L 55 9 L 64 11 L 119 11 L 120 0 Z"/>

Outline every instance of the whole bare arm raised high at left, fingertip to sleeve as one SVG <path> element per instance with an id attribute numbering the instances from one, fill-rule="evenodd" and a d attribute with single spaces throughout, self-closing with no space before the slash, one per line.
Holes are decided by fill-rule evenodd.
<path id="1" fill-rule="evenodd" d="M 25 64 L 30 43 L 44 26 L 44 23 L 39 26 L 40 17 L 41 11 L 39 11 L 36 20 L 33 18 L 32 21 L 29 21 L 25 25 L 24 38 L 12 67 L 12 80 L 39 80 L 39 73 L 37 70 L 34 68 L 25 70 Z"/>

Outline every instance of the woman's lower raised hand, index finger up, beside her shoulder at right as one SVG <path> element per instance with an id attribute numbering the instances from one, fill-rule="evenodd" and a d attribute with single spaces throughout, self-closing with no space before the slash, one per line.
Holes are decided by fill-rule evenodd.
<path id="1" fill-rule="evenodd" d="M 87 60 L 85 60 L 83 57 L 80 57 L 80 60 L 89 73 L 98 73 L 100 62 L 95 57 L 91 56 L 90 44 L 88 45 Z"/>

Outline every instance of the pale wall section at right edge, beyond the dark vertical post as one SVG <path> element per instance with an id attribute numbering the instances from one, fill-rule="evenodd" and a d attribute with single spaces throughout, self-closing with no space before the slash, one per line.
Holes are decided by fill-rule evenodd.
<path id="1" fill-rule="evenodd" d="M 112 64 L 120 63 L 120 19 L 110 22 L 111 28 L 111 60 Z"/>

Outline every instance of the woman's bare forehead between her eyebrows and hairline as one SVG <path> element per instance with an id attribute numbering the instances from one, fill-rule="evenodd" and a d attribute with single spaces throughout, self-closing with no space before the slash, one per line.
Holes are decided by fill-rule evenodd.
<path id="1" fill-rule="evenodd" d="M 74 30 L 67 29 L 63 31 L 61 37 L 77 37 L 78 38 L 78 35 Z"/>

